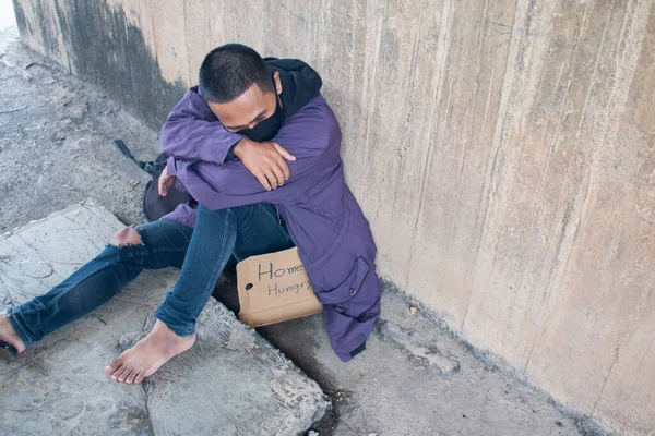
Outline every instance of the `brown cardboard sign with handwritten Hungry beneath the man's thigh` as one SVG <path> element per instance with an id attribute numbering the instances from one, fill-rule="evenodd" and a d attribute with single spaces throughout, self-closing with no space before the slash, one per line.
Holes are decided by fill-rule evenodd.
<path id="1" fill-rule="evenodd" d="M 237 265 L 239 319 L 251 327 L 322 312 L 298 249 L 252 256 Z"/>

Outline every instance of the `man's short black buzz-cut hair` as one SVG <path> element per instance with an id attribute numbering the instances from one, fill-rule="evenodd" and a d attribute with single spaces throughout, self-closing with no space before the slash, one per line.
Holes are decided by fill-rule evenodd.
<path id="1" fill-rule="evenodd" d="M 272 92 L 273 81 L 261 56 L 242 44 L 226 44 L 210 51 L 202 61 L 198 83 L 205 101 L 228 102 L 257 83 Z"/>

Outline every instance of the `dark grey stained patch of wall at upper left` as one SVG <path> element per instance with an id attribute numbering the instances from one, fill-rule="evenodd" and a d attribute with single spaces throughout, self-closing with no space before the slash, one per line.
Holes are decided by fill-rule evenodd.
<path id="1" fill-rule="evenodd" d="M 121 8 L 84 0 L 14 5 L 19 29 L 31 47 L 98 84 L 153 129 L 162 126 L 187 89 L 182 81 L 163 77 L 142 29 Z M 32 14 L 26 16 L 25 8 Z"/>

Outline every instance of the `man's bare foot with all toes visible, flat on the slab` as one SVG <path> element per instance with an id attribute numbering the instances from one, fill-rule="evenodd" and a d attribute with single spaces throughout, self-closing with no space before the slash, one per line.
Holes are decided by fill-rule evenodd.
<path id="1" fill-rule="evenodd" d="M 195 334 L 179 337 L 157 319 L 152 331 L 134 347 L 123 351 L 105 367 L 105 372 L 116 382 L 141 383 L 174 356 L 189 350 L 194 342 Z"/>

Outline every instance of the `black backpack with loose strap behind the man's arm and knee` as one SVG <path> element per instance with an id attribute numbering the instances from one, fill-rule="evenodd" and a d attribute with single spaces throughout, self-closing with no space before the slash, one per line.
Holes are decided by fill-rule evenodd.
<path id="1" fill-rule="evenodd" d="M 143 217 L 147 221 L 158 220 L 164 215 L 174 211 L 175 208 L 182 203 L 195 204 L 195 201 L 189 193 L 178 190 L 175 185 L 168 189 L 168 193 L 165 197 L 159 195 L 159 175 L 162 174 L 162 171 L 164 171 L 166 161 L 168 160 L 168 155 L 166 153 L 159 154 L 155 160 L 145 162 L 134 158 L 132 152 L 130 152 L 126 143 L 121 140 L 115 140 L 114 143 L 123 156 L 152 177 L 152 180 L 147 182 L 145 191 L 143 192 Z"/>

